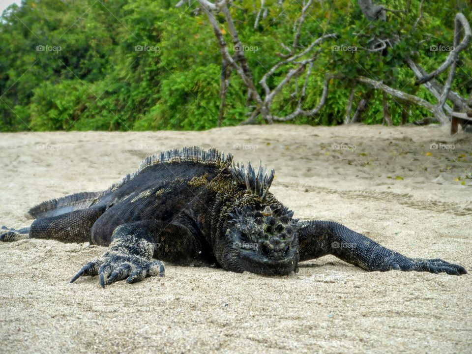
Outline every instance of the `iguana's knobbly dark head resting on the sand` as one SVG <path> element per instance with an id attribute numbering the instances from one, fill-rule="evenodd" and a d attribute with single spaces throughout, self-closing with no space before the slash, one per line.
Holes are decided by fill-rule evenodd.
<path id="1" fill-rule="evenodd" d="M 298 270 L 294 212 L 281 204 L 244 206 L 228 214 L 224 266 L 282 275 Z"/>

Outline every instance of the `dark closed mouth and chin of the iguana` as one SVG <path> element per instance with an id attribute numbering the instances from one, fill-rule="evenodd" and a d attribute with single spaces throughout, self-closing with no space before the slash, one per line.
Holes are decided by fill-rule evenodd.
<path id="1" fill-rule="evenodd" d="M 295 271 L 297 254 L 297 249 L 291 248 L 283 258 L 273 259 L 259 252 L 241 249 L 239 259 L 245 271 L 263 275 L 286 275 Z"/>

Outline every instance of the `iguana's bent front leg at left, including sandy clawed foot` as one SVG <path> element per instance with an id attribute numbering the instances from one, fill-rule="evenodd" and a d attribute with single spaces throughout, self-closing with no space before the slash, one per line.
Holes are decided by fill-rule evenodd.
<path id="1" fill-rule="evenodd" d="M 98 275 L 100 285 L 105 288 L 105 284 L 125 278 L 127 283 L 136 283 L 147 276 L 164 276 L 164 264 L 151 262 L 155 248 L 148 221 L 120 225 L 113 232 L 108 251 L 83 266 L 70 282 L 83 275 Z"/>

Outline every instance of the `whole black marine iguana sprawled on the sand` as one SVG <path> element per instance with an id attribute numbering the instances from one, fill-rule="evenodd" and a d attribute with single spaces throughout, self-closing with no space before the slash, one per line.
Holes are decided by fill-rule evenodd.
<path id="1" fill-rule="evenodd" d="M 72 278 L 98 275 L 104 288 L 164 275 L 162 261 L 283 275 L 298 262 L 334 255 L 368 271 L 466 274 L 441 259 L 411 259 L 332 221 L 299 221 L 269 187 L 274 170 L 235 164 L 231 154 L 198 147 L 148 156 L 138 171 L 101 192 L 71 194 L 29 210 L 21 238 L 90 242 L 105 254 Z M 153 259 L 154 258 L 154 259 Z"/>

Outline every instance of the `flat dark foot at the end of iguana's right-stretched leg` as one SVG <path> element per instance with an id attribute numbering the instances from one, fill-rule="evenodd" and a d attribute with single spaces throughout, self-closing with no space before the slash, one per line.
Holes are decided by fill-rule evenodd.
<path id="1" fill-rule="evenodd" d="M 397 257 L 383 262 L 380 271 L 386 270 L 403 270 L 403 271 L 427 271 L 430 273 L 446 273 L 451 275 L 467 274 L 467 270 L 463 266 L 443 261 L 442 259 L 420 259 L 407 258 L 399 260 Z"/>

